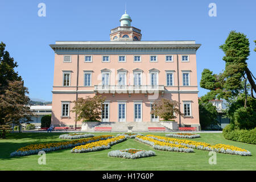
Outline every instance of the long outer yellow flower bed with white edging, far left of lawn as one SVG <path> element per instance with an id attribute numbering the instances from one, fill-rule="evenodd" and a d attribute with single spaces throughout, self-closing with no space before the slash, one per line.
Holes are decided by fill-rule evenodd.
<path id="1" fill-rule="evenodd" d="M 91 137 L 91 138 L 84 138 L 84 139 L 77 139 L 71 140 L 68 142 L 55 142 L 55 143 L 44 143 L 44 144 L 31 144 L 26 147 L 19 148 L 18 150 L 12 152 L 11 156 L 25 156 L 25 155 L 32 155 L 38 154 L 39 151 L 55 151 L 55 150 L 62 150 L 65 148 L 71 148 L 75 146 L 80 146 L 86 143 L 92 143 L 99 140 L 106 140 L 109 138 L 113 138 L 113 135 L 103 135 L 99 137 Z"/>

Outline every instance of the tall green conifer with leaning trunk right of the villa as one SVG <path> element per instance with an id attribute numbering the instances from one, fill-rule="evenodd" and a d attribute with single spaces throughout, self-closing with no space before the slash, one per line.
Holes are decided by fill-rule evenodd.
<path id="1" fill-rule="evenodd" d="M 253 93 L 256 86 L 253 80 L 255 77 L 246 63 L 247 57 L 250 55 L 249 40 L 246 35 L 231 31 L 220 48 L 225 53 L 223 57 L 226 63 L 225 70 L 216 75 L 209 69 L 204 69 L 200 86 L 210 91 L 201 97 L 201 100 L 206 103 L 216 98 L 224 98 L 229 105 L 226 114 L 233 125 L 241 129 L 254 128 L 256 126 L 253 122 L 255 109 L 253 109 L 252 100 L 255 100 Z M 250 93 L 249 90 L 251 90 Z M 243 118 L 246 115 L 247 118 Z"/>

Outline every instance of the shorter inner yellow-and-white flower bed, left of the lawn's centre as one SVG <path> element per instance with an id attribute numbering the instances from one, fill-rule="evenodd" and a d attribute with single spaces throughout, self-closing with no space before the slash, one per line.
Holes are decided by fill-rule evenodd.
<path id="1" fill-rule="evenodd" d="M 100 140 L 98 142 L 92 142 L 72 148 L 72 153 L 92 152 L 98 150 L 105 150 L 110 148 L 113 144 L 123 142 L 126 140 L 125 136 L 114 137 L 106 140 Z"/>

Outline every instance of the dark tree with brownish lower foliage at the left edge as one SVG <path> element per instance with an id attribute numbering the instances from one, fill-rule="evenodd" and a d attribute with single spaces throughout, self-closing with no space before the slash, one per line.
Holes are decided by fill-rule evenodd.
<path id="1" fill-rule="evenodd" d="M 30 121 L 32 115 L 30 108 L 26 106 L 30 100 L 26 94 L 28 89 L 24 87 L 22 77 L 14 68 L 18 67 L 13 57 L 5 51 L 6 45 L 0 44 L 0 135 L 6 137 L 11 124 L 20 125 L 19 119 Z"/>

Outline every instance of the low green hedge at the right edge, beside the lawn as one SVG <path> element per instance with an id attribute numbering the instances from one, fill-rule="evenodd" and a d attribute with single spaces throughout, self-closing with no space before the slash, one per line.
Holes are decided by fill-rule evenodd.
<path id="1" fill-rule="evenodd" d="M 252 130 L 238 130 L 229 124 L 223 129 L 222 134 L 228 140 L 256 144 L 256 127 Z"/>

